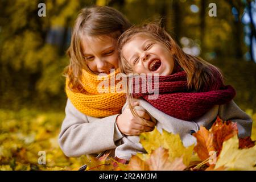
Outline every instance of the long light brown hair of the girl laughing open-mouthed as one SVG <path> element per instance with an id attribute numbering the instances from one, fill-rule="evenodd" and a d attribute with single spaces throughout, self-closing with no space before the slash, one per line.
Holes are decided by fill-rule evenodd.
<path id="1" fill-rule="evenodd" d="M 126 75 L 133 73 L 133 68 L 129 62 L 123 57 L 122 48 L 129 42 L 134 36 L 148 37 L 156 42 L 164 44 L 167 49 L 174 52 L 172 55 L 176 64 L 179 64 L 181 68 L 187 73 L 188 90 L 198 92 L 204 89 L 204 86 L 217 82 L 217 79 L 221 78 L 222 83 L 224 78 L 221 71 L 214 65 L 201 59 L 200 57 L 188 55 L 177 45 L 174 39 L 160 27 L 159 23 L 148 23 L 143 26 L 134 26 L 125 31 L 118 39 L 118 57 L 119 68 L 122 73 Z M 171 51 L 172 50 L 172 51 Z M 216 75 L 217 73 L 217 75 Z M 129 93 L 129 84 L 126 85 L 128 92 L 126 92 L 127 101 L 131 112 L 138 117 L 136 110 L 133 109 L 133 96 Z"/>

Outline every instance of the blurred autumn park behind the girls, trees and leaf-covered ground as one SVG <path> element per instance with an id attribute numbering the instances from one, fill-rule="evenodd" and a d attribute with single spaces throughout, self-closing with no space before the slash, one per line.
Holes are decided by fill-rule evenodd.
<path id="1" fill-rule="evenodd" d="M 46 17 L 38 16 L 41 2 Z M 209 16 L 210 3 L 216 3 L 217 16 Z M 234 101 L 251 115 L 255 128 L 255 1 L 1 0 L 0 170 L 42 169 L 37 165 L 40 150 L 48 152 L 48 167 L 80 165 L 62 154 L 57 134 L 67 100 L 65 51 L 79 10 L 91 5 L 112 6 L 133 24 L 162 19 L 185 52 L 222 70 L 226 84 L 237 91 Z"/>

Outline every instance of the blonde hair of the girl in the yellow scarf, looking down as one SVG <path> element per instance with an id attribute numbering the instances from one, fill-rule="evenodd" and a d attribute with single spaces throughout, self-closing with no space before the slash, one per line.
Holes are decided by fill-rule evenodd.
<path id="1" fill-rule="evenodd" d="M 82 55 L 82 36 L 109 36 L 118 39 L 131 27 L 131 23 L 118 10 L 108 6 L 85 7 L 77 16 L 72 30 L 71 45 L 67 50 L 70 58 L 64 75 L 69 78 L 69 88 L 76 88 L 81 83 L 82 69 L 89 71 Z"/>

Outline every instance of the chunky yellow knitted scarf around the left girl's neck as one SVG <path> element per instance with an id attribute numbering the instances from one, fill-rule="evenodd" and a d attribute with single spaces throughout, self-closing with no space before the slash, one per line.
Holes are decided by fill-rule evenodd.
<path id="1" fill-rule="evenodd" d="M 108 117 L 109 115 L 121 113 L 126 99 L 124 93 L 116 92 L 119 86 L 119 81 L 115 81 L 117 73 L 119 73 L 119 69 L 108 76 L 98 76 L 83 69 L 81 76 L 82 85 L 79 88 L 75 88 L 75 90 L 69 89 L 69 80 L 68 78 L 66 80 L 65 91 L 69 100 L 81 113 L 91 117 Z M 110 84 L 110 79 L 114 80 L 114 85 Z M 98 85 L 104 80 L 105 82 L 109 80 L 108 88 L 104 87 L 105 91 L 109 92 L 99 93 Z"/>

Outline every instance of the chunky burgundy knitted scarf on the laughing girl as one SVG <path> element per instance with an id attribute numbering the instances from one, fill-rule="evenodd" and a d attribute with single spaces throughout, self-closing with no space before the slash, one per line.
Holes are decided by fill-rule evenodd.
<path id="1" fill-rule="evenodd" d="M 214 72 L 214 70 L 213 70 Z M 216 72 L 216 71 L 215 71 Z M 236 91 L 230 85 L 223 85 L 221 78 L 216 74 L 218 81 L 209 84 L 200 92 L 189 92 L 187 86 L 187 74 L 182 69 L 168 76 L 159 76 L 159 96 L 156 100 L 148 99 L 150 95 L 147 86 L 134 82 L 134 89 L 139 86 L 139 93 L 133 97 L 142 97 L 152 106 L 163 113 L 185 121 L 193 121 L 204 115 L 214 105 L 222 105 L 231 101 Z M 154 79 L 153 79 L 154 81 Z M 144 88 L 143 88 L 144 87 Z M 152 85 L 154 89 L 154 84 Z M 141 93 L 145 89 L 146 93 Z"/>

